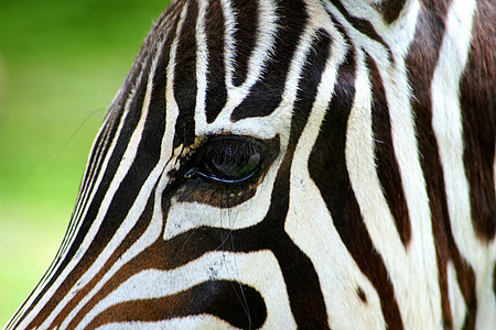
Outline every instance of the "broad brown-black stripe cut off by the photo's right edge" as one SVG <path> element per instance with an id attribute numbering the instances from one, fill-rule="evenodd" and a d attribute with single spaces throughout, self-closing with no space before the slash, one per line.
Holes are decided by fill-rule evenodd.
<path id="1" fill-rule="evenodd" d="M 470 183 L 472 223 L 478 239 L 496 235 L 494 160 L 496 139 L 496 9 L 477 1 L 472 47 L 460 82 L 463 120 L 463 163 Z"/>

